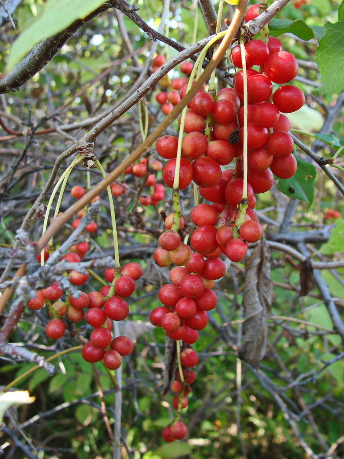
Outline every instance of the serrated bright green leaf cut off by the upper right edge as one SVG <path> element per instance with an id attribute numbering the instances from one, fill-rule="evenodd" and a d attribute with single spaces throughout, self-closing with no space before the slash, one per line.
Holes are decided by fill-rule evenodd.
<path id="1" fill-rule="evenodd" d="M 316 49 L 316 63 L 323 83 L 317 91 L 335 94 L 344 89 L 344 19 L 335 24 L 327 22 L 325 27 L 327 33 Z"/>

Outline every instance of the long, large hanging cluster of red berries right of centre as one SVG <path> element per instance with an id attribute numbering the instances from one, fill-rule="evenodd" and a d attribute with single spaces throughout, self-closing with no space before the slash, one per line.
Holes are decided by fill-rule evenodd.
<path id="1" fill-rule="evenodd" d="M 259 5 L 252 6 L 246 20 L 258 15 Z M 297 169 L 293 155 L 294 141 L 288 134 L 290 122 L 284 113 L 294 112 L 304 104 L 304 94 L 287 84 L 298 73 L 295 57 L 282 50 L 276 38 L 268 43 L 259 39 L 245 44 L 248 106 L 247 145 L 247 199 L 244 191 L 244 72 L 236 70 L 233 88 L 225 88 L 210 95 L 200 89 L 188 105 L 183 123 L 185 133 L 181 143 L 181 159 L 178 189 L 187 188 L 192 182 L 200 195 L 208 202 L 200 203 L 191 212 L 196 226 L 190 238 L 190 246 L 182 242 L 183 217 L 178 231 L 172 222 L 174 214 L 165 220 L 166 231 L 159 238 L 154 252 L 155 262 L 162 267 L 176 265 L 170 271 L 171 284 L 158 292 L 163 305 L 150 314 L 153 325 L 162 327 L 166 335 L 181 341 L 179 370 L 171 384 L 176 395 L 173 406 L 187 406 L 186 396 L 194 373 L 189 369 L 197 364 L 197 354 L 192 349 L 198 331 L 208 323 L 207 311 L 217 304 L 212 290 L 215 281 L 226 273 L 225 254 L 231 261 L 242 261 L 248 243 L 257 242 L 262 228 L 254 211 L 255 194 L 264 193 L 273 185 L 274 175 L 289 179 Z M 242 65 L 241 46 L 230 51 L 230 61 L 239 69 Z M 253 66 L 257 66 L 256 70 Z M 274 91 L 273 84 L 281 85 Z M 187 92 L 187 84 L 180 87 L 180 99 Z M 162 103 L 163 95 L 157 95 Z M 165 102 L 164 102 L 165 103 Z M 282 113 L 281 113 L 282 112 Z M 179 125 L 182 117 L 179 118 Z M 163 168 L 163 180 L 173 189 L 178 152 L 178 138 L 165 135 L 157 140 L 156 151 L 168 160 Z M 235 159 L 233 168 L 224 168 Z M 191 374 L 192 373 L 192 374 Z M 165 427 L 166 441 L 186 436 L 186 426 L 179 420 Z"/>

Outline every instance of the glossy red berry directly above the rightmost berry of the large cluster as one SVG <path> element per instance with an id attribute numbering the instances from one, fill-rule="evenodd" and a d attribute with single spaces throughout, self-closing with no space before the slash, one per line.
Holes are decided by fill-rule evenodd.
<path id="1" fill-rule="evenodd" d="M 274 83 L 283 84 L 293 80 L 299 71 L 295 57 L 287 51 L 272 54 L 265 63 L 264 71 Z"/>

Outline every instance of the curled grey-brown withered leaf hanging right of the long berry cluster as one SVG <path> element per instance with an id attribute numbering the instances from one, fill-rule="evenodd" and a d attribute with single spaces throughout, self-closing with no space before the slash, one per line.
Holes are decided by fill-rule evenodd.
<path id="1" fill-rule="evenodd" d="M 259 368 L 267 347 L 267 315 L 271 310 L 273 285 L 270 276 L 270 253 L 264 240 L 246 262 L 243 297 L 245 321 L 239 358 Z"/>

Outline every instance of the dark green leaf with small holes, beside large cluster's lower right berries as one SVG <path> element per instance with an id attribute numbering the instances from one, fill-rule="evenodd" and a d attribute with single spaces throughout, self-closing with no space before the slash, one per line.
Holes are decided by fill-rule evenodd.
<path id="1" fill-rule="evenodd" d="M 315 167 L 294 155 L 298 168 L 291 179 L 280 179 L 277 189 L 288 197 L 301 199 L 308 203 L 308 209 L 314 199 Z"/>

